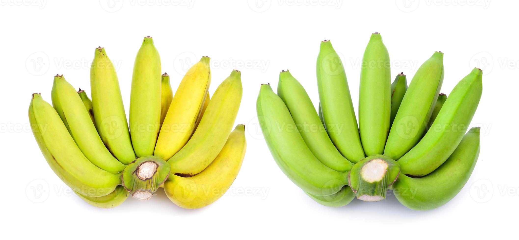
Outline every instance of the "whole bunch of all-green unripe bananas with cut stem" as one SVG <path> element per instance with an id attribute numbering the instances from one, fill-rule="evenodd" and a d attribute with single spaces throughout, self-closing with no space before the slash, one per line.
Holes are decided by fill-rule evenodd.
<path id="1" fill-rule="evenodd" d="M 277 95 L 262 84 L 256 110 L 265 142 L 282 172 L 312 200 L 340 207 L 355 196 L 384 200 L 392 189 L 406 207 L 427 210 L 448 202 L 467 182 L 479 154 L 479 128 L 463 135 L 481 98 L 481 69 L 448 98 L 439 94 L 442 52 L 420 66 L 409 88 L 403 73 L 390 83 L 389 72 L 387 49 L 372 34 L 361 68 L 360 138 L 344 67 L 329 41 L 321 43 L 318 58 L 317 111 L 288 71 L 280 73 Z M 346 134 L 333 129 L 337 122 Z M 343 156 L 354 164 L 341 165 Z"/>

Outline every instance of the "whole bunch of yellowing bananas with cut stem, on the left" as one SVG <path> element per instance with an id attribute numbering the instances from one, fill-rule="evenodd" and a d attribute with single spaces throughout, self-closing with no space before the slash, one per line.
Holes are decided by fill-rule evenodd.
<path id="1" fill-rule="evenodd" d="M 241 73 L 233 70 L 210 100 L 209 60 L 192 66 L 173 95 L 153 39 L 145 37 L 133 68 L 130 124 L 116 67 L 104 48 L 94 51 L 92 100 L 63 75 L 54 76 L 52 106 L 37 93 L 29 106 L 32 132 L 52 171 L 101 208 L 116 207 L 130 195 L 148 200 L 162 186 L 184 208 L 218 200 L 238 175 L 246 144 L 244 125 L 231 133 Z"/>

